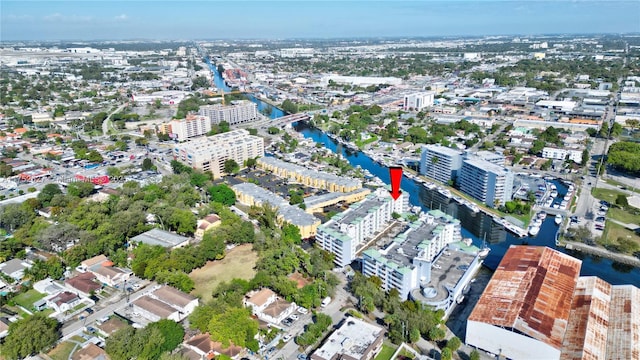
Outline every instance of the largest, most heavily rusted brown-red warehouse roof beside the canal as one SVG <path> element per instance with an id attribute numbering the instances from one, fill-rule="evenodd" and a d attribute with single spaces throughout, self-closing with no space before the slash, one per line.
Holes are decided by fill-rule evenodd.
<path id="1" fill-rule="evenodd" d="M 582 262 L 539 246 L 512 245 L 469 316 L 560 349 Z"/>

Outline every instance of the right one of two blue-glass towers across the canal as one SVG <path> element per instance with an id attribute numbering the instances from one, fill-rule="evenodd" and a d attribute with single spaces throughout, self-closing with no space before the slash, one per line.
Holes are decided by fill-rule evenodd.
<path id="1" fill-rule="evenodd" d="M 458 185 L 460 190 L 489 207 L 504 205 L 513 195 L 512 171 L 478 158 L 463 161 Z"/>

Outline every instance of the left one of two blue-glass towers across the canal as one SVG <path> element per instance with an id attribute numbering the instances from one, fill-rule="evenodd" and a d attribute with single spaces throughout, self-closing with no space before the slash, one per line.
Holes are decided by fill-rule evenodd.
<path id="1" fill-rule="evenodd" d="M 441 145 L 422 147 L 421 174 L 446 184 L 458 176 L 461 167 L 462 152 Z"/>

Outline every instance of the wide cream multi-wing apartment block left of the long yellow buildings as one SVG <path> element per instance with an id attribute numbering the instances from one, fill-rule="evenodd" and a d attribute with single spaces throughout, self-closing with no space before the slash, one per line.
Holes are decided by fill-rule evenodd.
<path id="1" fill-rule="evenodd" d="M 173 148 L 173 158 L 190 167 L 210 171 L 215 178 L 224 174 L 224 162 L 244 161 L 264 155 L 264 139 L 238 129 L 223 134 L 192 139 Z"/>

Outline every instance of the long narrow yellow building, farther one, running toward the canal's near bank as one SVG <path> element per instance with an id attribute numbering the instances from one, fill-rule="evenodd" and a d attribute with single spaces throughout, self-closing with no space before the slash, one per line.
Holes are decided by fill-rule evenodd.
<path id="1" fill-rule="evenodd" d="M 307 169 L 273 157 L 258 159 L 257 165 L 274 175 L 318 189 L 332 192 L 351 192 L 362 188 L 362 181 L 331 173 Z"/>

